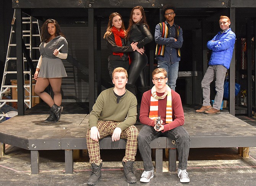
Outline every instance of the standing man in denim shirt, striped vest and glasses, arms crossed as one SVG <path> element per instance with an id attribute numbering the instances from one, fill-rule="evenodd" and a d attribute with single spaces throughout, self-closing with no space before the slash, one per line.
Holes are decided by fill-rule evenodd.
<path id="1" fill-rule="evenodd" d="M 172 5 L 163 7 L 165 22 L 157 24 L 155 30 L 157 67 L 167 71 L 168 86 L 174 91 L 183 43 L 182 29 L 174 24 L 175 9 Z"/>

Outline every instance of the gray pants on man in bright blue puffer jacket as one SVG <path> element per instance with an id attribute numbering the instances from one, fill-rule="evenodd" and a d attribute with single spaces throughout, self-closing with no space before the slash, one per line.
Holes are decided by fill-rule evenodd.
<path id="1" fill-rule="evenodd" d="M 203 106 L 210 106 L 210 84 L 215 79 L 215 91 L 213 108 L 220 110 L 223 93 L 224 80 L 227 73 L 227 68 L 222 65 L 209 65 L 201 82 L 203 90 Z"/>

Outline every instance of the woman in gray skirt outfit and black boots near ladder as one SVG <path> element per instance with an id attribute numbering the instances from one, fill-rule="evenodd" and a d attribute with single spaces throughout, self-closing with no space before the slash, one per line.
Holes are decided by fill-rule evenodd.
<path id="1" fill-rule="evenodd" d="M 41 28 L 41 42 L 39 46 L 41 56 L 34 74 L 37 80 L 35 93 L 50 107 L 50 115 L 45 122 L 58 122 L 63 110 L 60 106 L 62 103 L 60 88 L 62 78 L 67 76 L 62 59 L 68 57 L 68 43 L 56 20 L 47 19 L 44 22 Z M 49 84 L 53 90 L 53 99 L 47 92 L 44 92 Z"/>

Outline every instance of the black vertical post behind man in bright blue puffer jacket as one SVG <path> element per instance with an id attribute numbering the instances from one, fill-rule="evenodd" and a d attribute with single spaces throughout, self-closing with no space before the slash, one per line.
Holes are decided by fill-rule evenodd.
<path id="1" fill-rule="evenodd" d="M 230 8 L 230 28 L 235 33 L 235 8 Z M 235 46 L 234 46 L 235 47 Z M 229 68 L 229 113 L 235 116 L 235 48 Z"/>

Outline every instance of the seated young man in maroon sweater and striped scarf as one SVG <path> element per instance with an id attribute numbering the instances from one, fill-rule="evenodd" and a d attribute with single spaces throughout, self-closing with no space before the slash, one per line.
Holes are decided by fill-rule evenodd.
<path id="1" fill-rule="evenodd" d="M 152 72 L 152 81 L 155 86 L 144 92 L 141 100 L 139 120 L 145 126 L 138 135 L 138 147 L 144 163 L 144 172 L 141 182 L 149 182 L 154 177 L 154 167 L 151 158 L 150 143 L 157 137 L 172 138 L 175 136 L 178 143 L 178 177 L 180 182 L 190 182 L 186 172 L 188 153 L 190 149 L 190 136 L 183 128 L 184 112 L 180 95 L 167 86 L 167 72 L 164 68 L 156 68 Z M 161 124 L 157 129 L 157 117 Z"/>

